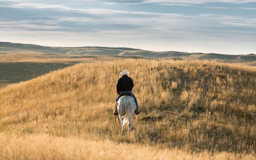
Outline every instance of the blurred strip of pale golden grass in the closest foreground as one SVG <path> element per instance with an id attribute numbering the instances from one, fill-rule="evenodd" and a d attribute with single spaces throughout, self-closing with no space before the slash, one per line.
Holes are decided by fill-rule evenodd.
<path id="1" fill-rule="evenodd" d="M 110 140 L 86 140 L 77 137 L 53 137 L 47 134 L 19 136 L 0 134 L 0 160 L 254 160 L 252 154 L 228 152 L 186 153 L 158 146 L 113 143 Z"/>

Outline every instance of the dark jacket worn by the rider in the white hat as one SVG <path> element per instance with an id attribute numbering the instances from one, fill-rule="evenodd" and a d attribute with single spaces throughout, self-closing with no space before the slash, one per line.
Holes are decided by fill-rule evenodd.
<path id="1" fill-rule="evenodd" d="M 122 91 L 131 91 L 133 88 L 133 80 L 128 75 L 123 75 L 117 81 L 117 93 Z"/>

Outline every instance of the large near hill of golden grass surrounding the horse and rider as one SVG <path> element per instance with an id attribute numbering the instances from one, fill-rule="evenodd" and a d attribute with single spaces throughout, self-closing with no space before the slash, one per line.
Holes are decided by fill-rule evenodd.
<path id="1" fill-rule="evenodd" d="M 130 71 L 142 111 L 129 135 L 120 133 L 112 115 L 122 69 Z M 178 154 L 251 159 L 256 151 L 256 120 L 250 116 L 256 112 L 255 77 L 253 66 L 217 61 L 125 59 L 80 63 L 11 84 L 0 89 L 0 142 L 6 144 L 7 137 L 7 146 L 16 147 L 0 147 L 5 153 L 0 159 L 15 151 L 24 159 L 30 159 L 27 152 L 31 157 L 38 152 L 41 158 L 56 153 L 65 159 L 98 158 L 92 155 L 97 149 L 84 144 L 90 141 L 109 147 L 103 149 L 106 159 L 111 159 L 112 148 L 126 147 L 133 153 L 143 148 L 144 159 L 168 159 L 170 153 L 174 159 Z M 52 150 L 34 153 L 27 147 L 22 152 L 34 139 L 39 139 L 35 146 L 50 145 Z M 74 145 L 81 146 L 80 152 L 69 149 Z M 130 159 L 140 157 L 136 155 Z"/>

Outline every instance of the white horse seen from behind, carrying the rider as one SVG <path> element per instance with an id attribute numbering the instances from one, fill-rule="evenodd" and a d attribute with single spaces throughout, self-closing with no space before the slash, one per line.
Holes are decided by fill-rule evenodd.
<path id="1" fill-rule="evenodd" d="M 128 133 L 132 130 L 132 118 L 134 111 L 136 110 L 136 104 L 133 97 L 122 96 L 117 101 L 117 111 L 119 113 L 119 118 L 122 122 L 122 132 L 124 132 L 124 125 L 128 125 Z"/>

